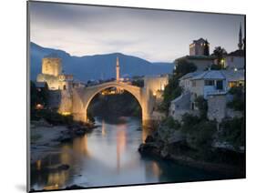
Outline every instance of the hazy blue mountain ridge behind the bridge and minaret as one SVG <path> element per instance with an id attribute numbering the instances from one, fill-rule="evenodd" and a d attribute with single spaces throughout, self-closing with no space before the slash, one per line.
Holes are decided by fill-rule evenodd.
<path id="1" fill-rule="evenodd" d="M 119 58 L 120 74 L 126 76 L 152 76 L 171 73 L 172 63 L 150 63 L 136 56 L 121 53 L 95 56 L 70 56 L 58 49 L 46 48 L 30 43 L 31 79 L 36 80 L 41 72 L 42 58 L 56 55 L 62 58 L 64 73 L 74 75 L 75 79 L 86 82 L 89 79 L 108 79 L 116 76 L 115 66 Z"/>

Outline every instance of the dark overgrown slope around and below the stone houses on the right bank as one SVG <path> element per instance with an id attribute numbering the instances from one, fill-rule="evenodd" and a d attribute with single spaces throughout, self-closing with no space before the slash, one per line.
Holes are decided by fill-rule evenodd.
<path id="1" fill-rule="evenodd" d="M 169 79 L 163 95 L 161 109 L 167 115 L 170 101 L 182 91 L 179 77 L 195 70 L 192 64 L 189 70 L 181 66 L 178 64 L 178 71 Z M 230 95 L 233 99 L 227 107 L 241 111 L 241 115 L 244 115 L 243 87 L 231 88 Z M 244 117 L 229 117 L 218 123 L 208 119 L 207 100 L 202 96 L 195 99 L 195 106 L 200 111 L 199 116 L 185 114 L 180 121 L 167 117 L 138 151 L 142 155 L 169 158 L 197 168 L 226 172 L 232 177 L 244 177 Z"/>

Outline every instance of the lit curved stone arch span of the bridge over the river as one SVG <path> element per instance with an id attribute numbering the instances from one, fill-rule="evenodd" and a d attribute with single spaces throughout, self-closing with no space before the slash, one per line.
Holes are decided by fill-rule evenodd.
<path id="1" fill-rule="evenodd" d="M 119 82 L 109 82 L 104 83 L 98 86 L 89 86 L 85 88 L 84 95 L 83 95 L 83 103 L 84 103 L 84 120 L 87 121 L 87 108 L 89 104 L 91 103 L 92 99 L 101 91 L 109 88 L 109 87 L 116 87 L 119 89 L 124 89 L 128 91 L 132 96 L 134 96 L 139 106 L 141 107 L 142 111 L 142 119 L 145 119 L 147 117 L 147 106 L 145 105 L 145 100 L 143 98 L 143 89 L 138 86 L 131 86 L 126 83 L 119 83 Z"/>

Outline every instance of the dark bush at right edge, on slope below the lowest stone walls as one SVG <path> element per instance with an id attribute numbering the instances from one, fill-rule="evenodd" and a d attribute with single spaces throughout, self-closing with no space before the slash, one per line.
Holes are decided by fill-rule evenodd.
<path id="1" fill-rule="evenodd" d="M 220 133 L 220 138 L 222 140 L 229 142 L 234 147 L 241 147 L 245 145 L 244 117 L 224 119 L 220 123 L 220 127 L 222 128 Z"/>

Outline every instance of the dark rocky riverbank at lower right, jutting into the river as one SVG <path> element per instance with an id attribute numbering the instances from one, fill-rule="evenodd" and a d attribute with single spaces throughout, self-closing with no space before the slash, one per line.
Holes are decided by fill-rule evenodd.
<path id="1" fill-rule="evenodd" d="M 244 155 L 228 149 L 210 148 L 209 152 L 194 147 L 179 129 L 159 127 L 138 147 L 141 156 L 160 157 L 227 178 L 244 178 Z M 232 162 L 232 159 L 235 160 Z"/>

